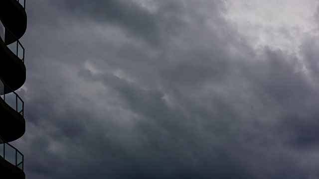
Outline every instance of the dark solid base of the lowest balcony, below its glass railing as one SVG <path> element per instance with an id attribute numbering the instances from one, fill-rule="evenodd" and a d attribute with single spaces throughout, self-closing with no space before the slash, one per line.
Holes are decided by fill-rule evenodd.
<path id="1" fill-rule="evenodd" d="M 0 156 L 0 178 L 1 179 L 25 179 L 25 174 L 19 168 L 13 166 Z"/>

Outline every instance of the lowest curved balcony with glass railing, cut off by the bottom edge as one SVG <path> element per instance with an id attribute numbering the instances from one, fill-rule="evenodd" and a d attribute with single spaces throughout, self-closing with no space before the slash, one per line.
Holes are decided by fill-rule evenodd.
<path id="1" fill-rule="evenodd" d="M 0 136 L 0 173 L 10 179 L 25 179 L 23 155 Z"/>

